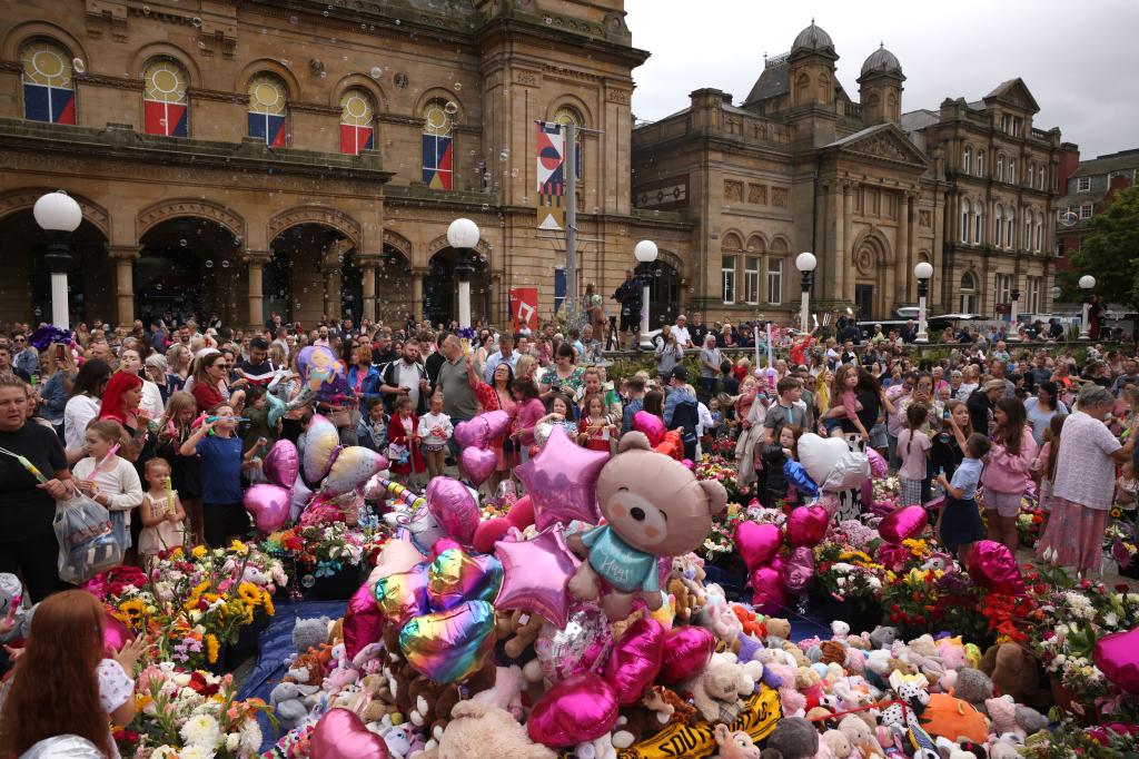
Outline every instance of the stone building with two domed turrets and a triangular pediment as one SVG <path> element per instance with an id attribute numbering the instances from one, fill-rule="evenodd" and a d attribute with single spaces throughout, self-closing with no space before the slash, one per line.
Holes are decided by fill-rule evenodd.
<path id="1" fill-rule="evenodd" d="M 1055 264 L 1059 130 L 1019 79 L 981 100 L 902 111 L 906 75 L 872 51 L 852 98 L 813 22 L 767 58 L 739 105 L 714 89 L 633 132 L 634 202 L 695 222 L 689 308 L 715 319 L 787 319 L 800 251 L 819 260 L 819 310 L 884 318 L 917 301 L 913 267 L 934 267 L 931 304 L 993 313 L 1021 289 L 1046 308 Z"/>

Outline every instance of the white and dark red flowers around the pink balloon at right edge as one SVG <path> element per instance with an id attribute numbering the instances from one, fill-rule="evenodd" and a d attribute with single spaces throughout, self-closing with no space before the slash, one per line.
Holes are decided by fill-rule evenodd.
<path id="1" fill-rule="evenodd" d="M 1044 667 L 1068 688 L 1080 703 L 1111 713 L 1108 702 L 1117 693 L 1092 661 L 1096 642 L 1111 632 L 1134 627 L 1139 619 L 1139 593 L 1126 586 L 1108 588 L 1103 582 L 1082 580 L 1039 597 L 1042 611 L 1054 621 L 1035 640 Z"/>

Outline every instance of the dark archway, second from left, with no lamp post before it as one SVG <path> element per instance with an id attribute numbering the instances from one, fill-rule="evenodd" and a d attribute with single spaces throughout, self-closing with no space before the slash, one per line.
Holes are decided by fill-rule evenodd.
<path id="1" fill-rule="evenodd" d="M 162 221 L 142 235 L 134 262 L 134 311 L 144 320 L 191 316 L 227 326 L 248 317 L 241 244 L 226 227 L 198 217 Z"/>

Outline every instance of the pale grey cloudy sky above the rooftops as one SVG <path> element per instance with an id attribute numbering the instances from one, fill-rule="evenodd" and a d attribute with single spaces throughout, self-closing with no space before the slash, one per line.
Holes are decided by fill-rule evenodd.
<path id="1" fill-rule="evenodd" d="M 1040 104 L 1034 126 L 1059 126 L 1083 157 L 1139 147 L 1137 0 L 625 0 L 633 44 L 653 57 L 633 72 L 633 113 L 655 121 L 688 106 L 702 87 L 739 103 L 763 54 L 790 49 L 811 16 L 835 41 L 838 79 L 855 79 L 879 42 L 904 72 L 902 107 L 977 100 L 1021 76 Z M 947 14 L 945 11 L 950 11 Z"/>

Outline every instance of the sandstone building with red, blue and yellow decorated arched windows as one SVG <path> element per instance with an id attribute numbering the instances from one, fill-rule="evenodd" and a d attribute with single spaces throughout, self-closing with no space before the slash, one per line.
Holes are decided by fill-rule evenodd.
<path id="1" fill-rule="evenodd" d="M 535 227 L 534 122 L 583 131 L 582 284 L 612 293 L 631 207 L 621 0 L 39 0 L 0 18 L 0 320 L 50 313 L 31 209 L 64 189 L 74 321 L 166 310 L 402 321 L 457 316 L 448 225 L 482 230 L 475 317 L 510 287 L 552 312 L 564 246 Z M 670 253 L 670 251 L 672 253 Z"/>

